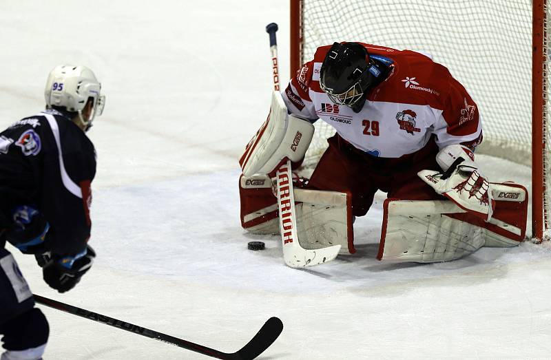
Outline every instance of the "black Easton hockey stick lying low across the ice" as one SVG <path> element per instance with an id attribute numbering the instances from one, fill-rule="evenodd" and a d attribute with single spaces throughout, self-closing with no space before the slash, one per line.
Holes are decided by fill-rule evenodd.
<path id="1" fill-rule="evenodd" d="M 162 332 L 156 332 L 155 330 L 142 328 L 141 326 L 130 324 L 122 320 L 94 313 L 90 310 L 85 310 L 83 308 L 77 308 L 76 306 L 64 304 L 62 302 L 48 299 L 47 297 L 42 297 L 40 295 L 34 295 L 34 300 L 37 301 L 37 303 L 49 306 L 50 308 L 65 311 L 65 313 L 85 317 L 86 319 L 98 321 L 102 324 L 114 326 L 115 328 L 120 328 L 129 332 L 134 332 L 134 334 L 149 337 L 150 339 L 155 339 L 158 341 L 163 341 L 164 343 L 171 343 L 172 345 L 179 346 L 180 348 L 199 352 L 200 354 L 204 354 L 209 357 L 216 357 L 217 359 L 255 359 L 264 350 L 269 348 L 269 346 L 273 343 L 273 341 L 275 341 L 275 339 L 278 338 L 283 330 L 283 323 L 281 322 L 281 320 L 278 319 L 278 317 L 271 317 L 270 319 L 268 319 L 268 321 L 266 321 L 262 328 L 260 328 L 253 339 L 251 339 L 251 341 L 247 343 L 247 345 L 243 346 L 237 352 L 227 353 L 207 348 L 207 346 L 202 346 L 198 343 L 192 343 L 190 341 L 178 339 L 177 337 L 165 335 Z"/>

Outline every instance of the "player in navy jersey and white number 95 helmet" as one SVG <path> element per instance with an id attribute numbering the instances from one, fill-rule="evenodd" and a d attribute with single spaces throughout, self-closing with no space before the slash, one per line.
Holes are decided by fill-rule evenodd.
<path id="1" fill-rule="evenodd" d="M 95 257 L 87 243 L 96 155 L 85 132 L 105 96 L 90 69 L 59 65 L 48 76 L 45 102 L 45 111 L 0 133 L 1 360 L 41 359 L 49 333 L 6 243 L 35 255 L 44 281 L 60 293 Z"/>

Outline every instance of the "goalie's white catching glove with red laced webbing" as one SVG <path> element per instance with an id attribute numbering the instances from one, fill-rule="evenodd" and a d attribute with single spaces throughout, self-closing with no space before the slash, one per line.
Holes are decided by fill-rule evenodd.
<path id="1" fill-rule="evenodd" d="M 461 209 L 490 221 L 495 210 L 492 187 L 481 175 L 474 158 L 468 147 L 448 145 L 436 156 L 444 172 L 422 170 L 417 175 Z"/>

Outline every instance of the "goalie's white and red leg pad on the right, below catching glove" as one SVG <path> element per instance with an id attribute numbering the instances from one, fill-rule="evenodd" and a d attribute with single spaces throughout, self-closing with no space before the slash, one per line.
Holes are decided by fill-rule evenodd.
<path id="1" fill-rule="evenodd" d="M 528 193 L 519 184 L 492 184 L 495 212 L 486 222 L 446 200 L 384 202 L 377 259 L 440 262 L 481 246 L 517 246 L 526 235 Z"/>

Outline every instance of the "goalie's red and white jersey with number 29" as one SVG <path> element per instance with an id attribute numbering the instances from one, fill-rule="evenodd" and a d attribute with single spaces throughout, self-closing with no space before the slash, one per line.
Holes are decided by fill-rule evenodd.
<path id="1" fill-rule="evenodd" d="M 291 114 L 311 121 L 321 119 L 346 142 L 382 158 L 399 158 L 422 149 L 431 135 L 441 149 L 481 141 L 482 125 L 476 103 L 443 65 L 417 52 L 362 44 L 371 61 L 388 71 L 370 89 L 361 109 L 333 103 L 320 87 L 320 68 L 331 46 L 319 47 L 285 89 Z"/>

